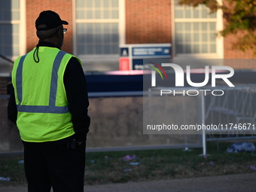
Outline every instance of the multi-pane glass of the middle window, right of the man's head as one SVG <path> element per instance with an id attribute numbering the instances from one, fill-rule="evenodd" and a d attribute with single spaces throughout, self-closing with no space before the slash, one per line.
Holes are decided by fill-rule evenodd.
<path id="1" fill-rule="evenodd" d="M 76 0 L 76 54 L 118 54 L 119 1 Z"/>

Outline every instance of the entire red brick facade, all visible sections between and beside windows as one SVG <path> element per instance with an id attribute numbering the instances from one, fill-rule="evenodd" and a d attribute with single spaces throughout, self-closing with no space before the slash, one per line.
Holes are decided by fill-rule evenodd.
<path id="1" fill-rule="evenodd" d="M 35 34 L 35 20 L 41 11 L 56 11 L 62 20 L 69 22 L 62 50 L 72 53 L 72 0 L 27 0 L 26 40 L 27 52 L 38 43 Z M 172 43 L 171 0 L 126 0 L 126 44 Z M 239 34 L 238 34 L 239 36 Z M 224 38 L 224 59 L 254 58 L 251 50 L 245 53 L 233 48 L 237 35 Z M 236 69 L 250 69 L 256 66 L 234 66 Z"/>

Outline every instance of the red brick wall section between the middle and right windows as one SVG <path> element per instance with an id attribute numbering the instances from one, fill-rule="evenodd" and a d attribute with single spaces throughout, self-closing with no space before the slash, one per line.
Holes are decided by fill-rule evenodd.
<path id="1" fill-rule="evenodd" d="M 170 0 L 126 0 L 126 44 L 171 43 Z"/>

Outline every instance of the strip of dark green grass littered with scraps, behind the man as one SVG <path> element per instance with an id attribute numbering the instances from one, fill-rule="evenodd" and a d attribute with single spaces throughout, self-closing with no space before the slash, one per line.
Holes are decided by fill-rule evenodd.
<path id="1" fill-rule="evenodd" d="M 114 151 L 87 153 L 85 184 L 107 184 L 128 181 L 152 181 L 169 178 L 193 178 L 255 172 L 256 157 L 251 153 L 225 152 L 231 143 L 207 142 L 208 157 L 200 157 L 202 148 L 148 151 Z M 126 154 L 136 154 L 136 160 L 124 161 Z M 0 157 L 0 176 L 11 181 L 0 181 L 0 186 L 26 185 L 23 157 Z M 139 162 L 131 166 L 130 163 Z"/>

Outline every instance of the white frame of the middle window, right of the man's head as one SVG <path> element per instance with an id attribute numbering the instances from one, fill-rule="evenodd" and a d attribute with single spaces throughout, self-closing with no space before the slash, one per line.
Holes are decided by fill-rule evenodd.
<path id="1" fill-rule="evenodd" d="M 109 22 L 118 23 L 119 30 L 119 44 L 125 44 L 125 1 L 118 0 L 118 17 L 116 20 L 108 20 Z M 87 23 L 105 23 L 105 20 L 77 20 L 76 19 L 76 6 L 75 0 L 72 0 L 73 5 L 73 54 L 78 56 L 81 60 L 86 62 L 97 62 L 97 61 L 117 61 L 119 59 L 119 54 L 95 54 L 95 55 L 78 55 L 77 50 L 77 30 L 76 24 L 79 22 L 87 21 Z"/>

